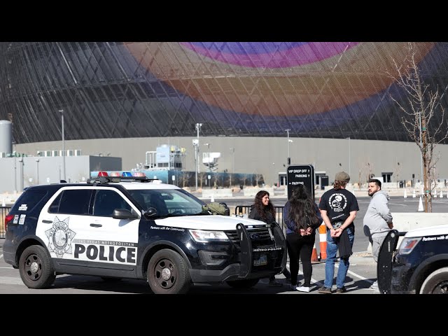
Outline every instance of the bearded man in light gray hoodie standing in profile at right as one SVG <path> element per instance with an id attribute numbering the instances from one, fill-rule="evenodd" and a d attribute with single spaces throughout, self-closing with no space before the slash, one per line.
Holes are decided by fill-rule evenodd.
<path id="1" fill-rule="evenodd" d="M 363 220 L 364 234 L 369 237 L 372 244 L 373 259 L 378 262 L 379 248 L 388 232 L 393 228 L 392 215 L 388 207 L 390 197 L 385 191 L 381 190 L 381 181 L 378 179 L 369 180 L 367 193 L 372 197 L 372 200 L 370 200 Z M 377 281 L 370 288 L 377 289 Z"/>

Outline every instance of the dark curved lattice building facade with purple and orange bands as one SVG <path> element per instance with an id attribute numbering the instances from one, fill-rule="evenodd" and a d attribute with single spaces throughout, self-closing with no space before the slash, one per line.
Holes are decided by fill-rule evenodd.
<path id="1" fill-rule="evenodd" d="M 390 96 L 405 106 L 407 97 L 386 74 L 407 54 L 402 42 L 3 42 L 0 120 L 13 123 L 19 145 L 59 141 L 63 110 L 66 141 L 182 142 L 195 137 L 195 124 L 202 123 L 201 137 L 239 138 L 241 146 L 252 146 L 246 151 L 257 148 L 256 139 L 285 138 L 289 130 L 291 138 L 351 139 L 349 151 L 356 153 L 354 141 L 411 141 Z M 438 87 L 447 109 L 448 43 L 416 43 L 416 59 L 423 80 L 432 90 Z M 440 125 L 441 116 L 436 114 L 432 123 Z M 314 152 L 330 148 L 330 142 L 317 148 L 309 144 Z M 346 148 L 346 141 L 341 144 Z M 235 153 L 240 145 L 219 146 L 214 150 L 228 153 L 231 146 Z M 279 146 L 286 151 L 286 145 Z M 288 156 L 294 158 L 289 150 L 288 144 Z M 353 153 L 348 155 L 353 171 L 372 162 L 354 163 Z M 227 156 L 225 167 L 231 171 L 235 154 Z M 391 158 L 394 153 L 386 160 Z M 276 168 L 274 159 L 267 160 L 274 179 L 284 160 Z M 319 159 L 302 155 L 298 160 Z M 194 170 L 191 155 L 186 167 Z"/>

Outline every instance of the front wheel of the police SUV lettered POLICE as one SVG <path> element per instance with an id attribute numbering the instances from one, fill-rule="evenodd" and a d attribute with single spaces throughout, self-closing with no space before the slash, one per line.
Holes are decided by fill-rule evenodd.
<path id="1" fill-rule="evenodd" d="M 162 270 L 171 272 L 170 279 L 162 278 Z M 190 272 L 185 260 L 179 253 L 164 248 L 154 253 L 148 263 L 147 278 L 155 294 L 185 294 L 190 289 Z"/>

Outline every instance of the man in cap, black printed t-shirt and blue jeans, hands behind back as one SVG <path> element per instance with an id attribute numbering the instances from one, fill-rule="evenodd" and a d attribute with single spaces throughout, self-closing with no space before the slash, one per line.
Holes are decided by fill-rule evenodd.
<path id="1" fill-rule="evenodd" d="M 333 276 L 335 275 L 336 253 L 339 249 L 339 269 L 336 278 L 336 293 L 345 293 L 345 276 L 349 271 L 349 257 L 355 238 L 356 212 L 359 210 L 355 195 L 346 190 L 350 181 L 349 174 L 339 172 L 335 184 L 326 191 L 319 203 L 323 222 L 327 226 L 327 259 L 325 260 L 325 281 L 318 293 L 331 294 Z"/>

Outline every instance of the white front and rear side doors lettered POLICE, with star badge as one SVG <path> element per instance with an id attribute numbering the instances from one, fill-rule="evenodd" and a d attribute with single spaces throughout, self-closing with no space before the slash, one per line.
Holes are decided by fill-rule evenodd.
<path id="1" fill-rule="evenodd" d="M 100 197 L 104 203 L 97 203 L 95 213 L 95 201 Z M 64 187 L 45 204 L 36 235 L 48 247 L 58 269 L 69 273 L 70 267 L 92 266 L 92 262 L 102 269 L 134 269 L 139 219 L 112 218 L 113 207 L 134 209 L 138 214 L 120 190 L 106 187 Z M 101 274 L 94 269 L 90 273 Z"/>

